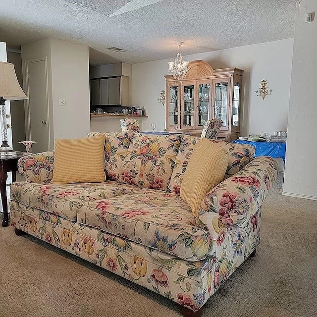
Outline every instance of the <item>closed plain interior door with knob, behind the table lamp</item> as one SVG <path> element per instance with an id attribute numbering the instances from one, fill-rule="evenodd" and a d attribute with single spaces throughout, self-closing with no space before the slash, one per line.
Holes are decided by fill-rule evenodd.
<path id="1" fill-rule="evenodd" d="M 46 60 L 26 62 L 28 118 L 32 153 L 49 150 L 49 117 Z"/>

